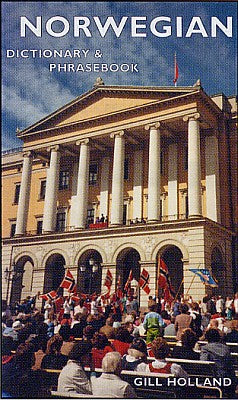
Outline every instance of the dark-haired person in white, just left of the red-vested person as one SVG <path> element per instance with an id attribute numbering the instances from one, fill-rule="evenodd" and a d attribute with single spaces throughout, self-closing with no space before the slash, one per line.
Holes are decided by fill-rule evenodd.
<path id="1" fill-rule="evenodd" d="M 137 371 L 138 365 L 146 365 L 147 348 L 143 339 L 135 338 L 127 352 L 128 354 L 122 357 L 122 369 Z"/>

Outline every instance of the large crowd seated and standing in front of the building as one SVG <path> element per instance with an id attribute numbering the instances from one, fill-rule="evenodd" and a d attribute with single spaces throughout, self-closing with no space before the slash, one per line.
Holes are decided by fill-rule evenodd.
<path id="1" fill-rule="evenodd" d="M 135 398 L 122 370 L 188 377 L 168 357 L 214 361 L 214 376 L 231 378 L 227 393 L 234 396 L 236 377 L 226 343 L 238 343 L 238 293 L 226 300 L 206 296 L 195 302 L 189 296 L 172 303 L 149 296 L 146 312 L 136 296 L 103 304 L 100 298 L 75 302 L 69 295 L 60 310 L 50 300 L 39 310 L 32 299 L 2 314 L 2 397 L 47 397 L 42 370 L 57 369 L 60 392 Z M 172 351 L 166 337 L 176 337 Z M 99 377 L 97 368 L 103 371 Z"/>

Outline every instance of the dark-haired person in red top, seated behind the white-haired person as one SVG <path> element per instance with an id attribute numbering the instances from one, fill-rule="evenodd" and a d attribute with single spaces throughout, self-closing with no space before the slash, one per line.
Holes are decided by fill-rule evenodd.
<path id="1" fill-rule="evenodd" d="M 92 362 L 94 368 L 102 367 L 103 357 L 113 351 L 108 338 L 103 333 L 95 333 L 92 339 Z"/>

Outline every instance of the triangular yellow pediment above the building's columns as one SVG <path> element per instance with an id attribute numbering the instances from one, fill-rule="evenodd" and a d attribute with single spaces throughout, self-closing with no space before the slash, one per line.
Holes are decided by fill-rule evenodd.
<path id="1" fill-rule="evenodd" d="M 114 113 L 143 107 L 153 102 L 184 96 L 196 91 L 194 87 L 161 88 L 132 86 L 100 86 L 77 97 L 36 124 L 21 131 L 18 136 L 26 133 L 39 132 L 46 129 L 62 128 L 73 123 L 83 122 Z"/>

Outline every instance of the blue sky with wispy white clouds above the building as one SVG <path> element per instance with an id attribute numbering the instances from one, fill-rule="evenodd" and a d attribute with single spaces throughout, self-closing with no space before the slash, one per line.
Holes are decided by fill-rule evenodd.
<path id="1" fill-rule="evenodd" d="M 92 37 L 73 37 L 72 30 L 61 38 L 50 36 L 43 29 L 42 37 L 29 30 L 20 37 L 20 16 L 35 23 L 42 16 L 43 25 L 53 16 L 63 16 L 72 27 L 73 16 L 114 16 L 117 23 L 123 16 L 146 16 L 146 37 L 131 37 L 127 21 L 119 38 L 112 31 L 102 38 L 95 24 L 90 25 Z M 171 17 L 172 35 L 156 37 L 149 30 L 150 21 L 157 16 Z M 177 38 L 176 16 L 182 16 L 186 32 L 193 16 L 201 17 L 209 37 L 192 35 Z M 218 17 L 226 24 L 233 17 L 233 37 L 218 31 L 210 37 L 210 18 Z M 21 146 L 16 128 L 23 129 L 53 112 L 93 87 L 101 76 L 106 85 L 173 86 L 174 53 L 179 66 L 178 86 L 192 86 L 198 78 L 208 94 L 235 94 L 236 74 L 235 2 L 3 2 L 2 4 L 2 148 Z M 142 22 L 141 22 L 142 23 Z M 60 26 L 58 27 L 60 29 Z M 57 29 L 57 25 L 54 25 Z M 86 59 L 7 58 L 7 49 L 89 49 Z M 95 50 L 102 57 L 95 59 Z M 139 72 L 50 72 L 49 63 L 134 63 Z"/>

